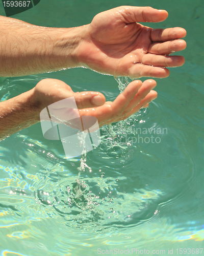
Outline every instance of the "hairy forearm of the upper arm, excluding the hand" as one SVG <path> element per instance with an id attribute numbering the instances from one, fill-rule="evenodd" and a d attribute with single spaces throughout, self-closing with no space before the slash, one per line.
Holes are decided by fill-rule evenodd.
<path id="1" fill-rule="evenodd" d="M 24 76 L 79 67 L 86 26 L 47 28 L 0 16 L 0 76 Z"/>

